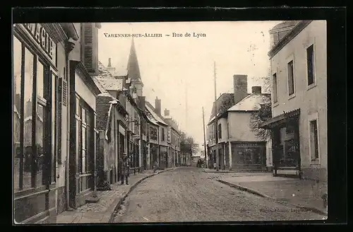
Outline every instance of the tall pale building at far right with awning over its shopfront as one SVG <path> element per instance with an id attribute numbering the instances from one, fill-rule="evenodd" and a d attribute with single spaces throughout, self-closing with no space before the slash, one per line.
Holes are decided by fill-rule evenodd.
<path id="1" fill-rule="evenodd" d="M 261 127 L 273 132 L 273 173 L 327 180 L 326 22 L 281 23 L 270 35 L 273 117 Z"/>

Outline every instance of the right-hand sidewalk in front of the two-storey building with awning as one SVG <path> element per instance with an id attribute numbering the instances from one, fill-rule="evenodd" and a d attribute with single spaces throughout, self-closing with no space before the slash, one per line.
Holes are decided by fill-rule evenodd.
<path id="1" fill-rule="evenodd" d="M 273 175 L 223 176 L 218 179 L 231 187 L 251 192 L 277 202 L 327 215 L 322 196 L 327 194 L 327 182 L 274 177 Z"/>

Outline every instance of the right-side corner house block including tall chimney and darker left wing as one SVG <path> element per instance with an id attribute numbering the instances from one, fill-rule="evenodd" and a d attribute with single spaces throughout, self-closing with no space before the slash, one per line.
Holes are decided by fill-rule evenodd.
<path id="1" fill-rule="evenodd" d="M 252 93 L 248 93 L 247 79 L 247 75 L 234 75 L 234 93 L 223 93 L 217 98 L 217 126 L 213 103 L 207 127 L 208 167 L 217 163 L 222 170 L 256 171 L 266 170 L 270 165 L 266 162 L 266 156 L 270 156 L 269 149 L 266 149 L 269 139 L 257 137 L 251 128 L 251 115 L 260 110 L 261 104 L 270 102 L 270 94 L 262 93 L 260 86 L 253 86 Z"/>

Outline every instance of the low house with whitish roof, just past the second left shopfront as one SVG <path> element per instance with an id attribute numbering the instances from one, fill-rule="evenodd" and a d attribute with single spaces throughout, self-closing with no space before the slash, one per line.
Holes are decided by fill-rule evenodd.
<path id="1" fill-rule="evenodd" d="M 104 181 L 114 184 L 121 180 L 121 162 L 126 153 L 126 116 L 125 103 L 116 97 L 123 91 L 123 80 L 115 79 L 108 69 L 99 62 L 99 72 L 92 76 L 100 88 L 97 95 L 97 187 Z M 114 97 L 115 96 L 115 97 Z"/>

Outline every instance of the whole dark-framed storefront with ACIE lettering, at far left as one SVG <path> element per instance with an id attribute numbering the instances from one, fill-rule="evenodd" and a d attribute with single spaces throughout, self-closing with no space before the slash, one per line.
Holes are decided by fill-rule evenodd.
<path id="1" fill-rule="evenodd" d="M 61 95 L 66 41 L 59 23 L 13 26 L 15 221 L 55 222 L 61 179 Z M 64 100 L 63 100 L 64 98 Z M 66 155 L 66 154 L 64 154 Z"/>

